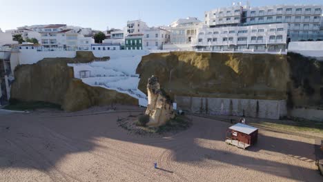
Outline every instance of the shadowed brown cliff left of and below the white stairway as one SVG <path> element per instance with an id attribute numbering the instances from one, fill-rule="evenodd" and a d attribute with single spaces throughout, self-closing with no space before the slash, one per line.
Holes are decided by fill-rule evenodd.
<path id="1" fill-rule="evenodd" d="M 43 59 L 33 65 L 19 65 L 14 70 L 11 98 L 55 103 L 68 112 L 111 103 L 137 105 L 137 99 L 127 94 L 91 87 L 74 79 L 73 69 L 67 64 L 88 63 L 94 59 L 97 58 L 92 52 L 77 52 L 77 57 L 72 59 Z"/>

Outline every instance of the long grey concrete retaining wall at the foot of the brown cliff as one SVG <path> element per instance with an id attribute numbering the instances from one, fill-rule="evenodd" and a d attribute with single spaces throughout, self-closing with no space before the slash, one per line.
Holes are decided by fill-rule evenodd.
<path id="1" fill-rule="evenodd" d="M 177 108 L 197 114 L 280 119 L 287 115 L 286 101 L 175 96 Z"/>

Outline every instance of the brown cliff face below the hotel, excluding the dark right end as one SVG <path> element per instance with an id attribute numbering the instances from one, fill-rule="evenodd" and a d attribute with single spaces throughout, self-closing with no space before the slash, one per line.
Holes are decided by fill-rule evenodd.
<path id="1" fill-rule="evenodd" d="M 164 90 L 190 97 L 286 99 L 289 67 L 284 55 L 170 52 L 149 54 L 137 68 L 139 89 L 154 74 Z"/>

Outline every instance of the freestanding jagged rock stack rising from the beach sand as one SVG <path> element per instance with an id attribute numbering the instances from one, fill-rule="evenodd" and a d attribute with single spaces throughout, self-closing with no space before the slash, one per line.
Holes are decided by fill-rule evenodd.
<path id="1" fill-rule="evenodd" d="M 147 84 L 148 106 L 146 114 L 149 115 L 148 126 L 165 125 L 169 119 L 175 117 L 173 103 L 169 97 L 162 92 L 157 77 L 150 77 Z"/>

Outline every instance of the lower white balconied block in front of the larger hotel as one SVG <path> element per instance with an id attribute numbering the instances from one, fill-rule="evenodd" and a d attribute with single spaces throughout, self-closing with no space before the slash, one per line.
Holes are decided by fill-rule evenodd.
<path id="1" fill-rule="evenodd" d="M 285 50 L 288 26 L 275 23 L 254 26 L 203 28 L 199 31 L 199 50 Z"/>

